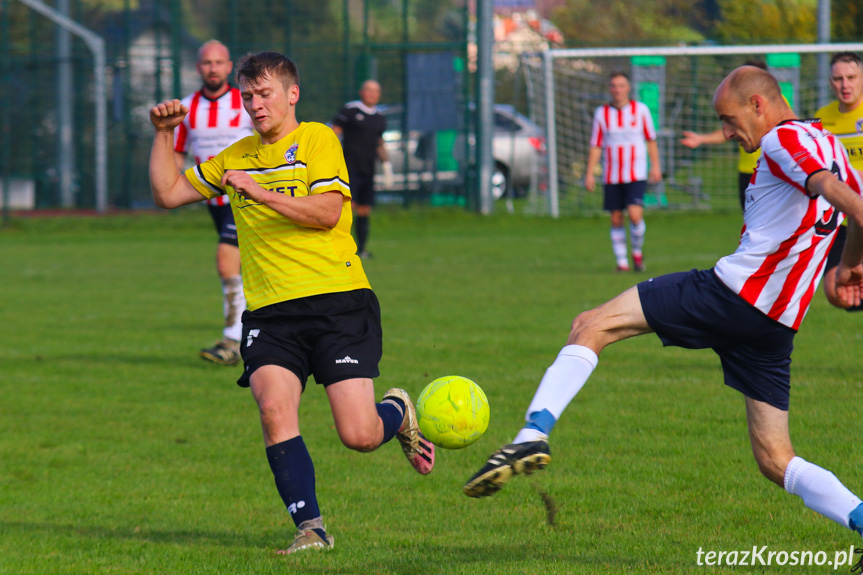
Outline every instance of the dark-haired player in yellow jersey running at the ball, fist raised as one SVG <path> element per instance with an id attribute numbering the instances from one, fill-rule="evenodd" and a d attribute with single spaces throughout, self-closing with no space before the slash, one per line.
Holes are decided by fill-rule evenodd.
<path id="1" fill-rule="evenodd" d="M 247 56 L 237 78 L 257 134 L 181 174 L 173 131 L 188 108 L 168 100 L 150 110 L 156 128 L 150 185 L 174 208 L 227 193 L 237 223 L 247 311 L 237 382 L 258 404 L 267 459 L 297 534 L 282 553 L 328 549 L 312 459 L 299 431 L 308 377 L 323 385 L 336 432 L 357 451 L 397 437 L 411 465 L 427 474 L 434 446 L 419 432 L 408 394 L 375 403 L 380 308 L 350 235 L 351 192 L 342 148 L 323 124 L 299 123 L 299 74 L 275 52 Z"/>

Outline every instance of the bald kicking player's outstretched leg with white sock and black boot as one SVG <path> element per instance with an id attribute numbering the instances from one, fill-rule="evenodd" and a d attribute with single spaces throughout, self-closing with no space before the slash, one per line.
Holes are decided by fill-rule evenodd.
<path id="1" fill-rule="evenodd" d="M 468 497 L 498 492 L 510 477 L 530 474 L 551 462 L 548 436 L 563 411 L 587 382 L 607 345 L 650 333 L 633 287 L 596 309 L 579 314 L 567 345 L 549 367 L 527 409 L 526 425 L 513 443 L 504 445 L 464 485 Z"/>

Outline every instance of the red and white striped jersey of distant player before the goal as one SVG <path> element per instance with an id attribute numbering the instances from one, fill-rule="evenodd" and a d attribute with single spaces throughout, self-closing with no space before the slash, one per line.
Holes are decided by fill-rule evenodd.
<path id="1" fill-rule="evenodd" d="M 641 102 L 623 108 L 604 104 L 593 114 L 590 146 L 602 148 L 603 182 L 628 184 L 647 179 L 647 142 L 656 139 L 653 117 Z"/>

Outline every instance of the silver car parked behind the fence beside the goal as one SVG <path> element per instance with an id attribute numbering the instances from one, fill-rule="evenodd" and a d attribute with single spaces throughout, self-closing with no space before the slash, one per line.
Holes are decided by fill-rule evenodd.
<path id="1" fill-rule="evenodd" d="M 387 118 L 383 139 L 393 164 L 393 177 L 391 186 L 387 186 L 379 170 L 375 176 L 378 191 L 436 190 L 460 184 L 464 169 L 461 159 L 468 153 L 461 132 L 412 130 L 405 138 L 402 105 L 380 108 Z M 472 135 L 468 145 L 476 145 Z M 495 104 L 492 193 L 496 199 L 506 195 L 507 190 L 512 190 L 516 196 L 523 195 L 536 181 L 537 170 L 545 162 L 545 153 L 545 135 L 539 126 L 518 113 L 514 106 Z"/>

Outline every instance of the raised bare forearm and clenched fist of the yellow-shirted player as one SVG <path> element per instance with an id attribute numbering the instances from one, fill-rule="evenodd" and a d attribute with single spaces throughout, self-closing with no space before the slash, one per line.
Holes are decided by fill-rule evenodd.
<path id="1" fill-rule="evenodd" d="M 150 149 L 150 190 L 160 208 L 176 208 L 204 199 L 180 173 L 174 156 L 174 128 L 188 112 L 179 100 L 166 100 L 150 108 L 150 122 L 156 128 Z"/>

